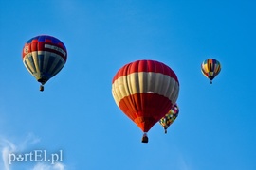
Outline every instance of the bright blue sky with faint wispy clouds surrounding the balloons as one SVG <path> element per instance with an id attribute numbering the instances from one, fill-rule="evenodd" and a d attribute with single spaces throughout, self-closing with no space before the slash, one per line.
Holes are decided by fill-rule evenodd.
<path id="1" fill-rule="evenodd" d="M 1 0 L 0 169 L 255 170 L 255 7 L 253 0 Z M 68 53 L 43 93 L 21 57 L 41 34 Z M 200 71 L 208 58 L 222 64 L 211 85 Z M 111 93 L 119 68 L 137 59 L 164 62 L 180 83 L 179 116 L 167 134 L 155 124 L 148 144 Z M 9 164 L 9 153 L 35 150 L 62 161 Z"/>

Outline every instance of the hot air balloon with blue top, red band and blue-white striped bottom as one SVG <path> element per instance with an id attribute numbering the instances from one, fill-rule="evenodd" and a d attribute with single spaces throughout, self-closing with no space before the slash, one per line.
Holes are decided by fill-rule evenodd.
<path id="1" fill-rule="evenodd" d="M 44 84 L 63 69 L 67 52 L 57 38 L 40 35 L 25 43 L 22 59 L 27 71 L 41 83 L 40 91 L 44 91 Z"/>

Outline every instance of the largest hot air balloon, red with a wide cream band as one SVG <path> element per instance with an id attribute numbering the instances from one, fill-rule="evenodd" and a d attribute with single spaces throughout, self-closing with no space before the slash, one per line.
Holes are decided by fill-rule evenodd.
<path id="1" fill-rule="evenodd" d="M 147 132 L 175 104 L 179 82 L 174 71 L 156 60 L 137 60 L 119 69 L 112 80 L 112 94 L 122 110 L 143 132 Z"/>

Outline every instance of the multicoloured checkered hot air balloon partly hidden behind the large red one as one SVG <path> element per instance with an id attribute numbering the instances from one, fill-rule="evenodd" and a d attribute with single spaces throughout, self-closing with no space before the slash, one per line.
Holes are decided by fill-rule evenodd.
<path id="1" fill-rule="evenodd" d="M 178 112 L 179 112 L 178 106 L 177 104 L 174 104 L 172 109 L 169 110 L 168 113 L 165 114 L 165 116 L 160 119 L 159 123 L 164 128 L 165 133 L 167 133 L 167 128 L 174 123 L 174 120 L 178 116 Z"/>

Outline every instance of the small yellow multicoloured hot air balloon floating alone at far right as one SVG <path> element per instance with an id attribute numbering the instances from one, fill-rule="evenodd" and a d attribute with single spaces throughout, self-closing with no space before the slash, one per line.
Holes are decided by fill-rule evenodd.
<path id="1" fill-rule="evenodd" d="M 204 76 L 210 79 L 210 84 L 212 84 L 213 78 L 221 71 L 221 64 L 216 59 L 206 59 L 201 64 L 201 71 Z"/>

